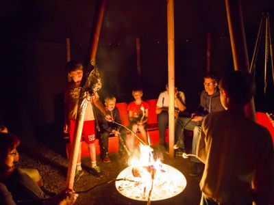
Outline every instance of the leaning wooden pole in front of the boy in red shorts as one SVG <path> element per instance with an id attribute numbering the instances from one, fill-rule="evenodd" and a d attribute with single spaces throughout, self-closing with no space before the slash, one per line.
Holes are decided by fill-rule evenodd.
<path id="1" fill-rule="evenodd" d="M 90 37 L 90 62 L 95 63 L 95 56 L 97 52 L 97 45 L 99 42 L 99 33 L 101 29 L 101 23 L 103 20 L 103 11 L 105 10 L 106 0 L 99 0 L 97 1 L 97 7 L 95 10 L 95 17 L 93 20 L 93 23 L 96 25 L 92 25 L 93 28 L 91 37 Z M 84 87 L 85 81 L 87 79 L 82 79 L 80 87 Z M 66 176 L 66 187 L 69 189 L 73 189 L 74 184 L 74 177 L 75 177 L 75 169 L 76 169 L 76 163 L 77 163 L 77 156 L 79 153 L 79 148 L 81 145 L 81 136 L 82 136 L 82 129 L 84 124 L 84 113 L 86 111 L 87 104 L 89 103 L 86 98 L 84 98 L 84 92 L 83 89 L 81 90 L 79 94 L 79 102 L 78 102 L 78 108 L 77 108 L 77 119 L 75 124 L 75 131 L 73 134 L 73 143 L 71 148 L 71 155 L 69 159 L 69 168 L 68 168 L 68 174 Z"/>

